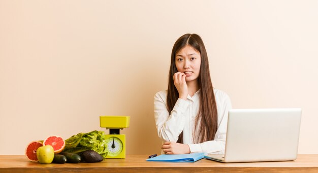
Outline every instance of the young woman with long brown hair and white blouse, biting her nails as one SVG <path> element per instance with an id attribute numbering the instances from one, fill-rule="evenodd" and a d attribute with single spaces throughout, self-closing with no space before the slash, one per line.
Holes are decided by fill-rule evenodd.
<path id="1" fill-rule="evenodd" d="M 154 96 L 154 118 L 165 154 L 224 154 L 229 96 L 213 89 L 208 56 L 197 34 L 173 46 L 168 90 Z"/>

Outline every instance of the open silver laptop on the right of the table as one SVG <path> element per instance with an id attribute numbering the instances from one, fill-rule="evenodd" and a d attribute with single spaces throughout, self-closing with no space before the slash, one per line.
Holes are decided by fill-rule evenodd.
<path id="1" fill-rule="evenodd" d="M 225 163 L 295 160 L 300 120 L 298 108 L 230 110 L 225 154 L 204 157 Z"/>

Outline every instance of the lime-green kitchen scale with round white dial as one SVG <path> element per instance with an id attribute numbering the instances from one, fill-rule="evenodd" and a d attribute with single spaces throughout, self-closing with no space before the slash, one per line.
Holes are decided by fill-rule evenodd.
<path id="1" fill-rule="evenodd" d="M 129 127 L 129 121 L 129 116 L 100 116 L 101 127 L 109 129 L 106 158 L 126 158 L 125 134 L 120 134 L 120 129 Z"/>

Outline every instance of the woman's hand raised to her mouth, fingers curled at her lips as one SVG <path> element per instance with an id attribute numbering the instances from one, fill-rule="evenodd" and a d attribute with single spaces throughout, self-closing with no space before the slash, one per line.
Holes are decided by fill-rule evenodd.
<path id="1" fill-rule="evenodd" d="M 185 82 L 186 75 L 181 72 L 177 72 L 173 75 L 174 86 L 179 92 L 179 98 L 186 100 L 188 96 L 188 88 Z"/>

